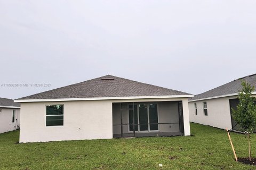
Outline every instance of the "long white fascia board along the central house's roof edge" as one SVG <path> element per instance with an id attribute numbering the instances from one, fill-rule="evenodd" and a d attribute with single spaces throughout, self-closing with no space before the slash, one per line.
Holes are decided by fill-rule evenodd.
<path id="1" fill-rule="evenodd" d="M 62 99 L 20 99 L 14 102 L 42 102 L 42 101 L 83 101 L 83 100 L 123 100 L 123 99 L 158 99 L 158 98 L 190 98 L 194 95 L 172 96 L 131 96 L 131 97 L 93 97 L 93 98 L 62 98 Z"/>

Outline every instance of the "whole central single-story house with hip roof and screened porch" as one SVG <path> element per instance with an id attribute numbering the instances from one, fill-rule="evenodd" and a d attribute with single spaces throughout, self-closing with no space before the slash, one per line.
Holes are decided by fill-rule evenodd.
<path id="1" fill-rule="evenodd" d="M 20 142 L 190 135 L 189 97 L 112 75 L 23 97 Z"/>

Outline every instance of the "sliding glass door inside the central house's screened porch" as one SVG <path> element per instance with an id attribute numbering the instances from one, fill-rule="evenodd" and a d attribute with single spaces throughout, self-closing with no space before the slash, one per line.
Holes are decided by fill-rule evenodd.
<path id="1" fill-rule="evenodd" d="M 130 108 L 129 131 L 133 131 L 133 115 L 134 115 L 135 131 L 139 131 L 139 132 L 158 131 L 157 104 L 154 104 L 154 103 L 134 104 L 134 108 L 133 108 L 133 105 L 129 105 L 129 108 Z"/>

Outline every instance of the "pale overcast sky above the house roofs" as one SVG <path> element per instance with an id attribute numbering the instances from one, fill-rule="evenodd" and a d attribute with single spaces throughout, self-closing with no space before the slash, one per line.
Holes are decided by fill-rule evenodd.
<path id="1" fill-rule="evenodd" d="M 199 94 L 256 73 L 256 1 L 0 0 L 0 97 L 111 74 Z M 50 83 L 51 87 L 3 84 Z"/>

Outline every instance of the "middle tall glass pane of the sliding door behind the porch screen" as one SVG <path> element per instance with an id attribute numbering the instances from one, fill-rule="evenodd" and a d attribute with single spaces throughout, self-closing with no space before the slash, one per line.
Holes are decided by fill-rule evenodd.
<path id="1" fill-rule="evenodd" d="M 140 131 L 148 131 L 148 108 L 146 104 L 139 104 Z"/>

